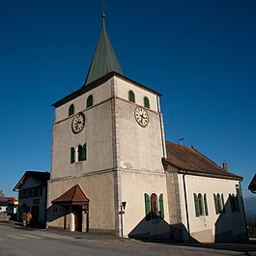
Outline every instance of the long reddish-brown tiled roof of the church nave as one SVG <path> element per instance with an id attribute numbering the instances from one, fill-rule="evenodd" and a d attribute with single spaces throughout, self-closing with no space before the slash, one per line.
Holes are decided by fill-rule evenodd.
<path id="1" fill-rule="evenodd" d="M 163 162 L 177 167 L 180 171 L 201 176 L 242 180 L 241 176 L 224 170 L 193 147 L 166 141 L 166 152 L 167 158 L 163 158 Z"/>

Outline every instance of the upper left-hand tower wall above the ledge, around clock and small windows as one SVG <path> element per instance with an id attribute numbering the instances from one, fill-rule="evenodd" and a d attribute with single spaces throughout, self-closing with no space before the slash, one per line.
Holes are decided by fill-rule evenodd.
<path id="1" fill-rule="evenodd" d="M 105 171 L 113 168 L 112 118 L 110 80 L 89 93 L 56 108 L 53 126 L 51 179 L 79 177 L 83 174 Z M 94 97 L 94 105 L 85 109 L 86 99 Z M 85 126 L 79 133 L 71 130 L 74 117 L 68 117 L 69 106 L 74 104 L 75 112 L 83 112 Z M 61 120 L 61 118 L 63 120 Z M 71 147 L 87 144 L 87 159 L 71 164 Z"/>

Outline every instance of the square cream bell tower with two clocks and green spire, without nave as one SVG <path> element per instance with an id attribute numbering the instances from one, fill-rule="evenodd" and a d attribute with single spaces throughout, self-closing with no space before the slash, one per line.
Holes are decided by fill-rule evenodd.
<path id="1" fill-rule="evenodd" d="M 47 224 L 67 229 L 78 225 L 73 214 L 83 204 L 62 205 L 60 198 L 79 187 L 88 200 L 88 230 L 128 236 L 145 218 L 145 194 L 167 202 L 160 94 L 124 76 L 102 7 L 100 39 L 84 85 L 53 104 Z M 51 211 L 52 202 L 59 204 L 58 214 Z M 124 226 L 122 202 L 127 202 Z M 167 206 L 161 209 L 168 221 Z"/>

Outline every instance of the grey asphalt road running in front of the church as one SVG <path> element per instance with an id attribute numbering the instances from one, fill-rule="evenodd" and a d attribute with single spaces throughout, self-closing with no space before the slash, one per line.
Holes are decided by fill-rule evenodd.
<path id="1" fill-rule="evenodd" d="M 76 239 L 46 230 L 24 229 L 0 223 L 1 256 L 151 256 L 151 255 L 256 255 L 213 248 L 190 247 L 170 243 L 136 242 L 130 240 Z"/>

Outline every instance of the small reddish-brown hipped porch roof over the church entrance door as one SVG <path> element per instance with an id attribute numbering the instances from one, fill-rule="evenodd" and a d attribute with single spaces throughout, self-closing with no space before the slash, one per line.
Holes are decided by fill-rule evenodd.
<path id="1" fill-rule="evenodd" d="M 51 203 L 55 205 L 83 205 L 90 200 L 86 197 L 79 185 L 74 185 L 67 192 L 54 199 Z"/>

